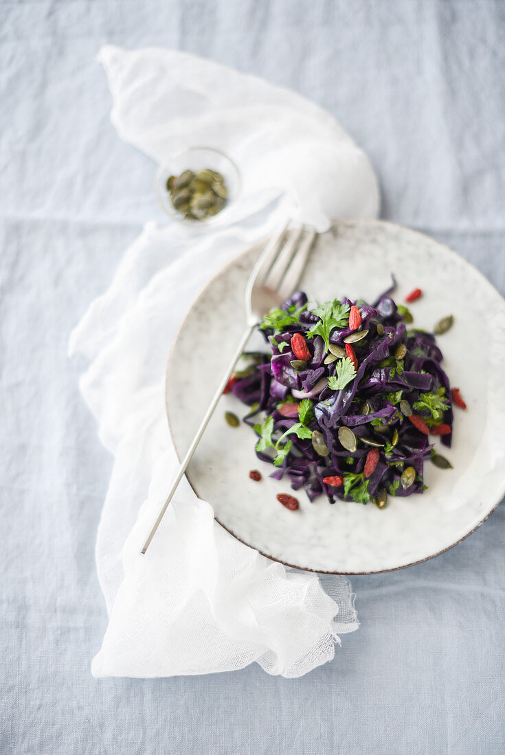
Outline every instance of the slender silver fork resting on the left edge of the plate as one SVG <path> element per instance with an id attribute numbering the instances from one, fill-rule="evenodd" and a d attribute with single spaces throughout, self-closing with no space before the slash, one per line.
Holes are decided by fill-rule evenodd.
<path id="1" fill-rule="evenodd" d="M 228 365 L 228 370 L 222 377 L 222 381 L 214 394 L 187 454 L 181 461 L 181 466 L 169 490 L 169 495 L 161 507 L 160 513 L 156 518 L 156 522 L 154 522 L 149 537 L 144 543 L 141 553 L 145 553 L 149 547 L 150 541 L 153 539 L 166 509 L 170 501 L 172 501 L 178 484 L 181 482 L 186 467 L 194 455 L 207 424 L 209 424 L 209 420 L 215 407 L 218 405 L 218 401 L 228 384 L 231 373 L 234 371 L 234 367 L 243 352 L 249 336 L 271 307 L 278 307 L 290 294 L 293 294 L 302 275 L 308 252 L 314 243 L 315 237 L 316 232 L 313 229 L 301 225 L 290 228 L 290 223 L 287 223 L 277 236 L 271 238 L 256 265 L 252 268 L 246 285 L 246 332 L 237 346 L 237 351 Z"/>

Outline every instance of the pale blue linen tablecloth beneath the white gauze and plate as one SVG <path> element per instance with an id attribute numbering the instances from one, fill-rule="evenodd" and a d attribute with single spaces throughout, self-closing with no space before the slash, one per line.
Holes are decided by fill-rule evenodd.
<path id="1" fill-rule="evenodd" d="M 383 216 L 505 293 L 503 2 L 4 0 L 0 39 L 0 751 L 503 753 L 503 506 L 437 559 L 354 578 L 360 630 L 302 679 L 92 679 L 111 460 L 66 357 L 125 246 L 163 222 L 153 164 L 108 120 L 104 42 L 181 48 L 312 97 L 370 154 Z"/>

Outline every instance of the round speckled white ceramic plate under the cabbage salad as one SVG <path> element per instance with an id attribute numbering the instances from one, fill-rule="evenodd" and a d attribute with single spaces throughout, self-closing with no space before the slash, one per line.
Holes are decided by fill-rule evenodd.
<path id="1" fill-rule="evenodd" d="M 249 249 L 209 282 L 178 334 L 166 399 L 179 456 L 245 327 L 243 291 L 261 248 Z M 428 490 L 390 497 L 383 510 L 338 501 L 332 506 L 324 496 L 310 503 L 299 491 L 300 509 L 291 512 L 276 500 L 277 493 L 292 492 L 289 482 L 268 477 L 273 467 L 256 458 L 253 431 L 225 423 L 227 409 L 246 413 L 233 395 L 223 397 L 188 468 L 197 495 L 212 504 L 226 529 L 287 565 L 362 574 L 423 561 L 473 532 L 505 492 L 505 301 L 479 271 L 412 230 L 345 221 L 318 237 L 299 288 L 309 300 L 347 295 L 372 301 L 389 286 L 392 272 L 396 300 L 417 286 L 424 291 L 411 305 L 415 326 L 431 330 L 454 314 L 453 328 L 438 338 L 451 385 L 460 387 L 468 405 L 466 411 L 455 408 L 453 446 L 442 447 L 454 470 L 426 463 Z M 262 482 L 249 479 L 251 469 L 261 471 Z"/>

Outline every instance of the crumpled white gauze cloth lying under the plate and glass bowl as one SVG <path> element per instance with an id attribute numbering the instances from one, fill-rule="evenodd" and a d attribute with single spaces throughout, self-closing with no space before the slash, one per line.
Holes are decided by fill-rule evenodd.
<path id="1" fill-rule="evenodd" d="M 73 331 L 90 359 L 80 387 L 114 455 L 98 528 L 109 626 L 94 676 L 172 676 L 242 668 L 301 676 L 358 627 L 349 581 L 285 569 L 215 522 L 185 480 L 140 555 L 178 461 L 165 414 L 166 362 L 181 319 L 208 279 L 293 217 L 376 217 L 367 157 L 298 94 L 192 55 L 107 46 L 119 135 L 156 162 L 187 146 L 231 156 L 243 192 L 226 227 L 147 224 L 108 291 Z M 218 381 L 216 376 L 216 383 Z"/>

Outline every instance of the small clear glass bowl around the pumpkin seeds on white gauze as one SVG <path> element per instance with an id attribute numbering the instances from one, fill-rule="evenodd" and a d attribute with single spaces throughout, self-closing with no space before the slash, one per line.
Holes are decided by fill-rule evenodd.
<path id="1" fill-rule="evenodd" d="M 225 179 L 225 186 L 228 190 L 228 199 L 226 200 L 225 207 L 206 220 L 193 220 L 189 217 L 183 217 L 170 201 L 166 182 L 170 176 L 178 176 L 182 171 L 190 170 L 197 173 L 198 171 L 203 171 L 204 168 L 217 171 Z M 240 173 L 233 160 L 225 155 L 225 153 L 220 152 L 219 149 L 209 146 L 192 146 L 175 153 L 164 165 L 161 165 L 156 173 L 155 188 L 156 198 L 160 203 L 160 207 L 167 215 L 173 217 L 174 220 L 178 220 L 179 223 L 184 223 L 184 225 L 194 228 L 199 226 L 215 226 L 222 223 L 223 219 L 226 219 L 230 208 L 234 205 L 240 194 Z"/>

